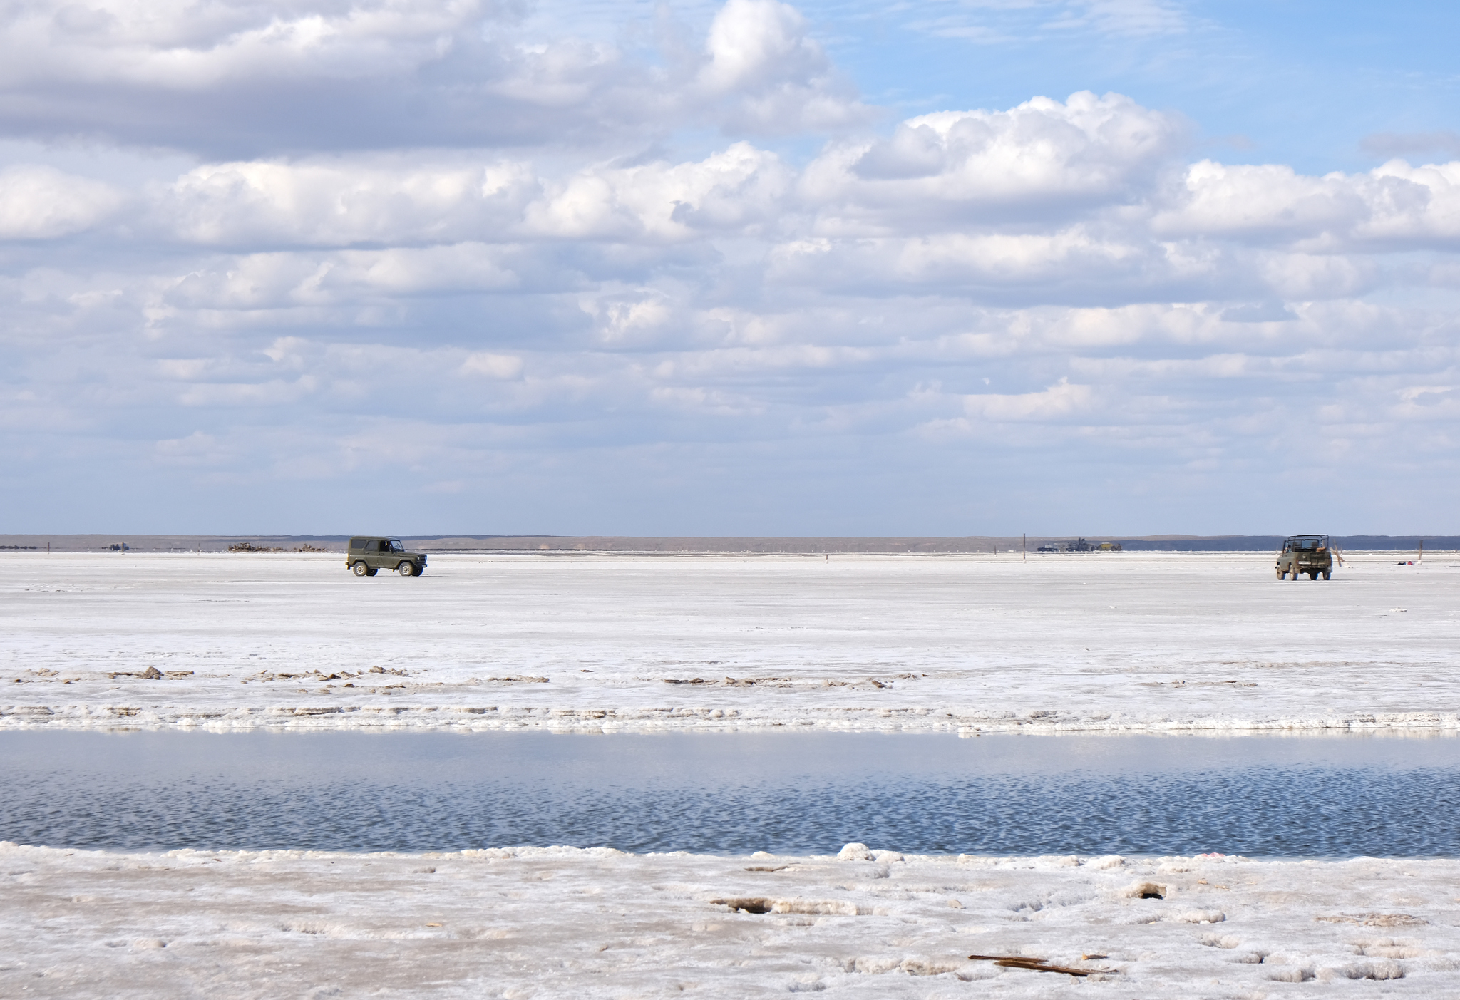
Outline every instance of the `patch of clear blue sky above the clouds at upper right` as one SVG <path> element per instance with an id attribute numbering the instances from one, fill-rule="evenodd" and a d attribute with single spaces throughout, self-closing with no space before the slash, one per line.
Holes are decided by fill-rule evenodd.
<path id="1" fill-rule="evenodd" d="M 930 111 L 940 101 L 1009 107 L 1032 93 L 1117 91 L 1188 117 L 1193 149 L 1226 162 L 1321 174 L 1387 159 L 1364 149 L 1374 134 L 1450 133 L 1448 149 L 1410 145 L 1402 150 L 1409 155 L 1453 152 L 1460 142 L 1453 4 L 1107 4 L 1104 23 L 1072 7 L 869 12 L 876 29 L 829 48 L 880 104 Z M 1111 16 L 1121 7 L 1124 22 Z M 837 31 L 837 6 L 807 12 Z M 974 29 L 972 38 L 959 29 Z M 978 44 L 980 31 L 988 41 Z"/>

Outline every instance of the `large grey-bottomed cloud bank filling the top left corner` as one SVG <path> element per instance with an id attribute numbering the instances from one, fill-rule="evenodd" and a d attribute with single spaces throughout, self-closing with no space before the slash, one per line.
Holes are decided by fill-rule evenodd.
<path id="1" fill-rule="evenodd" d="M 491 0 L 130 0 L 0 9 L 0 127 L 209 158 L 420 146 L 622 146 L 686 121 L 748 134 L 860 121 L 774 0 L 731 0 L 704 53 L 642 60 L 533 34 Z"/>

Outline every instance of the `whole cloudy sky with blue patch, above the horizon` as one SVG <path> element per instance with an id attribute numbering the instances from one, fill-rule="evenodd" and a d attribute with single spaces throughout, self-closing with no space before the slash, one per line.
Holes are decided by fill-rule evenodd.
<path id="1" fill-rule="evenodd" d="M 0 533 L 1460 533 L 1456 4 L 0 19 Z"/>

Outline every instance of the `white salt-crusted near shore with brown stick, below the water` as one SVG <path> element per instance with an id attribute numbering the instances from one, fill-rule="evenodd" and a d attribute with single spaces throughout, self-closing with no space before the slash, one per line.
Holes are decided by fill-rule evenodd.
<path id="1" fill-rule="evenodd" d="M 1460 861 L 844 854 L 0 844 L 0 994 L 1460 996 Z"/>

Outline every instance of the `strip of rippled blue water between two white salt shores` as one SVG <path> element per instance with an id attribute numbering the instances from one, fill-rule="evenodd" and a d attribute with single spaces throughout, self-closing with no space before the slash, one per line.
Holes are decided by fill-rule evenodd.
<path id="1" fill-rule="evenodd" d="M 18 731 L 0 733 L 0 838 L 1454 857 L 1460 740 Z"/>

